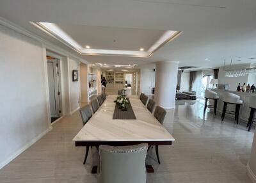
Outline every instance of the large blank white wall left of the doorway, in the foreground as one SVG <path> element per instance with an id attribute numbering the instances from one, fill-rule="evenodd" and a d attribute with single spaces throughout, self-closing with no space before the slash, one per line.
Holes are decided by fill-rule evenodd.
<path id="1" fill-rule="evenodd" d="M 0 25 L 0 168 L 49 129 L 42 43 Z"/>

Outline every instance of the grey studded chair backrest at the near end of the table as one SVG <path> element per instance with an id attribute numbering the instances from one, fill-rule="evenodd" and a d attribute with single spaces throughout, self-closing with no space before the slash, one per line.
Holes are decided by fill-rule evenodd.
<path id="1" fill-rule="evenodd" d="M 147 143 L 122 147 L 100 145 L 97 183 L 145 183 L 147 149 Z"/>

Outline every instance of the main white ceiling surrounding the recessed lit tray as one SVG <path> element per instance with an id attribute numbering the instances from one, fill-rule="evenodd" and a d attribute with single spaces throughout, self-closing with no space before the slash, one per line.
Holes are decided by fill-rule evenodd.
<path id="1" fill-rule="evenodd" d="M 29 21 L 182 31 L 182 35 L 161 47 L 150 58 L 83 56 L 90 62 L 141 65 L 155 61 L 180 61 L 180 66 L 205 68 L 222 65 L 224 58 L 228 61 L 232 58 L 233 63 L 256 61 L 248 60 L 256 57 L 255 9 L 255 0 L 0 1 L 1 17 L 66 49 L 65 45 L 35 28 Z M 108 40 L 100 44 L 107 44 L 105 41 Z"/>

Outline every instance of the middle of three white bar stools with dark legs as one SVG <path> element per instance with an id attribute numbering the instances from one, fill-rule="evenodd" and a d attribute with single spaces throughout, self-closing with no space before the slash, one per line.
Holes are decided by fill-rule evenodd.
<path id="1" fill-rule="evenodd" d="M 240 106 L 243 104 L 243 100 L 240 100 L 240 96 L 236 95 L 234 93 L 229 93 L 225 92 L 223 93 L 223 111 L 222 111 L 222 121 L 224 120 L 225 114 L 230 114 L 230 115 L 235 115 L 235 120 L 236 123 L 238 124 L 238 119 L 239 119 L 239 111 L 240 111 Z M 227 110 L 227 105 L 228 104 L 233 104 L 236 105 L 236 111 L 228 111 Z"/>

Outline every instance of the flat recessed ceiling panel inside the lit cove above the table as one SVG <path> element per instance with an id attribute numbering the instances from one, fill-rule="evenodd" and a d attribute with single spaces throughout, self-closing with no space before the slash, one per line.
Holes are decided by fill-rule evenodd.
<path id="1" fill-rule="evenodd" d="M 111 28 L 102 26 L 82 26 L 57 24 L 82 47 L 91 49 L 111 49 L 140 51 L 148 50 L 165 31 L 149 29 Z"/>

